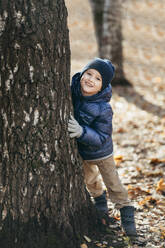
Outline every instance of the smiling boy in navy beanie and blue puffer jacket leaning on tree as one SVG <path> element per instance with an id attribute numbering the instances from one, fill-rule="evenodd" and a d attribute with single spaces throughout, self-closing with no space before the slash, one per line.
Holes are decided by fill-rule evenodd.
<path id="1" fill-rule="evenodd" d="M 96 58 L 72 78 L 74 117 L 68 124 L 71 138 L 77 139 L 83 158 L 87 189 L 94 198 L 101 218 L 107 220 L 108 206 L 102 179 L 111 201 L 120 210 L 121 224 L 129 236 L 136 236 L 134 207 L 131 206 L 113 159 L 112 117 L 110 105 L 114 66 Z"/>

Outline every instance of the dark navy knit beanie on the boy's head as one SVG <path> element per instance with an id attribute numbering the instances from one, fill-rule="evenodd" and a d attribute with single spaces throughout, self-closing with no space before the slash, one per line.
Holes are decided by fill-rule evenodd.
<path id="1" fill-rule="evenodd" d="M 83 68 L 83 70 L 81 71 L 81 77 L 83 73 L 88 69 L 95 69 L 100 73 L 102 77 L 101 90 L 105 89 L 108 86 L 108 84 L 111 83 L 114 77 L 115 67 L 108 59 L 100 59 L 100 58 L 93 59 Z"/>

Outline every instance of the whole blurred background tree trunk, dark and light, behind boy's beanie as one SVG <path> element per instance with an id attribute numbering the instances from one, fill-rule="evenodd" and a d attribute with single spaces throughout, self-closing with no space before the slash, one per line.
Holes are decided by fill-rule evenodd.
<path id="1" fill-rule="evenodd" d="M 113 86 L 130 85 L 123 70 L 122 1 L 90 0 L 99 57 L 110 59 L 116 68 Z"/>

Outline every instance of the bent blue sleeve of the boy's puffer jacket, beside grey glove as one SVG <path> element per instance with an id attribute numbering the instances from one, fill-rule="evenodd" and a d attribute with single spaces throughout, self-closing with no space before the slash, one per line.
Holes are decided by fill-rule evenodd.
<path id="1" fill-rule="evenodd" d="M 112 115 L 111 107 L 102 109 L 92 125 L 82 125 L 83 133 L 78 142 L 99 149 L 112 135 Z"/>

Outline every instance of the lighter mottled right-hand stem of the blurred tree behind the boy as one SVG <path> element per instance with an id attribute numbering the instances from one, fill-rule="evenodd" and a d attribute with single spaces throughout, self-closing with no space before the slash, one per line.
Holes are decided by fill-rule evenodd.
<path id="1" fill-rule="evenodd" d="M 123 77 L 121 1 L 105 0 L 101 56 L 109 58 L 116 67 L 116 77 Z"/>

